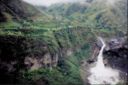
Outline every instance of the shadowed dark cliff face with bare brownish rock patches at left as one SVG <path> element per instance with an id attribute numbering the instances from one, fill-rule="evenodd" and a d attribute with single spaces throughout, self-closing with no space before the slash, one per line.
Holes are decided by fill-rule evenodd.
<path id="1" fill-rule="evenodd" d="M 21 36 L 0 36 L 0 84 L 17 84 L 21 71 L 52 68 L 58 55 L 40 40 Z"/>

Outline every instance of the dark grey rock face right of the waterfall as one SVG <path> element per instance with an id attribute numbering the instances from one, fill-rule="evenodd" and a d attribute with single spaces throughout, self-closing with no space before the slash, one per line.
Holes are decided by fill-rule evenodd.
<path id="1" fill-rule="evenodd" d="M 110 49 L 104 51 L 104 60 L 107 61 L 108 66 L 118 69 L 121 79 L 126 82 L 128 78 L 128 42 L 126 39 L 119 40 L 114 40 L 116 43 L 110 42 Z"/>

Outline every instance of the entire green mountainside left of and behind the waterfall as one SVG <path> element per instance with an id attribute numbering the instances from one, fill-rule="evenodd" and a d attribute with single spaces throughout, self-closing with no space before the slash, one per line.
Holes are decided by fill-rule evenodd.
<path id="1" fill-rule="evenodd" d="M 83 85 L 81 64 L 97 35 L 126 35 L 126 2 L 45 7 L 0 0 L 0 84 Z"/>

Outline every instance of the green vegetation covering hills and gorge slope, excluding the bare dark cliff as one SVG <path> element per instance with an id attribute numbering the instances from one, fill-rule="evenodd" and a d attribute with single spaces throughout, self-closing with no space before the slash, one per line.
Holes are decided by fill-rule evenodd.
<path id="1" fill-rule="evenodd" d="M 0 23 L 0 36 L 9 35 L 30 39 L 30 46 L 34 44 L 35 47 L 32 45 L 27 50 L 28 54 L 41 54 L 43 51 L 43 48 L 39 47 L 41 43 L 47 45 L 51 54 L 60 51 L 63 54 L 59 55 L 58 65 L 53 69 L 21 71 L 22 83 L 35 84 L 36 81 L 41 80 L 47 85 L 83 85 L 79 71 L 80 63 L 81 60 L 91 56 L 91 46 L 96 35 L 122 36 L 126 32 L 124 30 L 126 22 L 123 17 L 125 13 L 124 10 L 120 10 L 121 7 L 116 10 L 116 7 L 100 7 L 100 3 L 89 4 L 92 6 L 70 3 L 55 4 L 48 8 L 36 7 L 40 12 L 29 5 L 26 10 L 32 15 L 19 16 L 17 13 L 20 19 L 14 19 L 14 15 L 8 11 L 2 12 L 6 22 Z M 24 18 L 25 16 L 29 17 Z M 121 30 L 121 28 L 124 29 Z M 67 55 L 66 50 L 71 51 L 71 54 Z"/>

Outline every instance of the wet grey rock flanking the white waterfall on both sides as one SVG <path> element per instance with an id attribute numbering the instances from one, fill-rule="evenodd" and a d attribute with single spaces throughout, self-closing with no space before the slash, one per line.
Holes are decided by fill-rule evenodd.
<path id="1" fill-rule="evenodd" d="M 93 48 L 93 54 L 90 59 L 86 61 L 84 64 L 86 69 L 93 67 L 95 65 L 95 61 L 97 60 L 97 55 L 99 53 L 99 49 L 102 44 L 97 42 Z M 117 69 L 120 72 L 120 80 L 121 83 L 127 83 L 128 78 L 128 45 L 126 38 L 115 38 L 109 39 L 106 43 L 106 48 L 104 49 L 104 64 L 107 67 L 111 67 L 113 69 Z M 86 70 L 89 76 L 89 71 Z M 85 78 L 86 82 L 87 79 Z"/>

